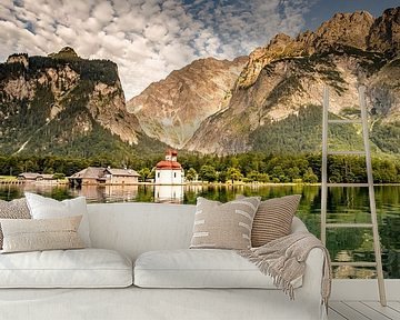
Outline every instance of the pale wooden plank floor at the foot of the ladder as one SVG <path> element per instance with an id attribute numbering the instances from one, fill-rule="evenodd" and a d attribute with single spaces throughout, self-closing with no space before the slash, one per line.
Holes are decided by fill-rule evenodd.
<path id="1" fill-rule="evenodd" d="M 388 301 L 387 307 L 378 301 L 331 301 L 329 304 L 329 320 L 400 320 L 400 300 Z"/>

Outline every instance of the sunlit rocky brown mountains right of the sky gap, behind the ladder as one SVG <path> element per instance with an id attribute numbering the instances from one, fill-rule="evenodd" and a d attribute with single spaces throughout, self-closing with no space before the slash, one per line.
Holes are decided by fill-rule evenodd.
<path id="1" fill-rule="evenodd" d="M 128 107 L 148 136 L 189 151 L 320 151 L 323 87 L 330 88 L 332 117 L 348 118 L 357 113 L 362 84 L 373 149 L 400 153 L 399 52 L 400 7 L 377 19 L 366 11 L 337 13 L 314 32 L 277 34 L 248 58 L 194 61 Z M 336 131 L 339 144 L 360 140 L 348 129 Z M 303 137 L 307 147 L 297 143 Z"/>

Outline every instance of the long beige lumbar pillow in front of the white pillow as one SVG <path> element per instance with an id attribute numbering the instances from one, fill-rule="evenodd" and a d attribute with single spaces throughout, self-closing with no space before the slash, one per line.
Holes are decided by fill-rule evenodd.
<path id="1" fill-rule="evenodd" d="M 82 216 L 58 219 L 0 219 L 3 251 L 79 249 L 84 244 L 78 236 Z"/>

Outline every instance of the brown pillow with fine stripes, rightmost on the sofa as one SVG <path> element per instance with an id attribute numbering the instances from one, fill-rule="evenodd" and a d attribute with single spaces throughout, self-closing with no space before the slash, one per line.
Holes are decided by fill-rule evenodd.
<path id="1" fill-rule="evenodd" d="M 252 247 L 261 247 L 290 233 L 300 198 L 301 194 L 293 194 L 260 203 L 251 230 Z"/>

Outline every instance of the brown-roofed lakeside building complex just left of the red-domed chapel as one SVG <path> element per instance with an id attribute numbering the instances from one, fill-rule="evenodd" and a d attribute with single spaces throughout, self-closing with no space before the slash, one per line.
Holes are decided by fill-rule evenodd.
<path id="1" fill-rule="evenodd" d="M 139 173 L 132 169 L 88 167 L 68 177 L 73 187 L 82 184 L 136 184 Z"/>

